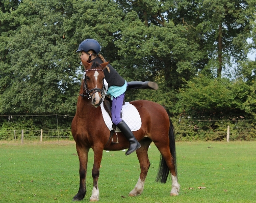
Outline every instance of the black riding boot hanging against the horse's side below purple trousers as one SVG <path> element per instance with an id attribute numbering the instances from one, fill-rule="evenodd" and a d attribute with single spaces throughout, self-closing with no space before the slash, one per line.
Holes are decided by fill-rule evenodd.
<path id="1" fill-rule="evenodd" d="M 125 152 L 125 155 L 129 155 L 133 153 L 135 150 L 139 149 L 141 147 L 140 143 L 137 141 L 137 139 L 134 137 L 133 132 L 127 126 L 127 124 L 124 121 L 121 121 L 119 124 L 116 125 L 123 135 L 126 137 L 126 139 L 130 142 L 129 149 Z"/>

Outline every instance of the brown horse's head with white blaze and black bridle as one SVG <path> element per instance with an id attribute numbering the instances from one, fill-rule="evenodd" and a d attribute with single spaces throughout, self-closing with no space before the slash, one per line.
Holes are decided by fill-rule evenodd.
<path id="1" fill-rule="evenodd" d="M 95 61 L 88 63 L 81 60 L 85 67 L 84 72 L 84 83 L 83 89 L 88 99 L 91 99 L 92 105 L 98 107 L 102 102 L 102 93 L 104 88 L 104 72 L 103 70 L 109 64 L 105 62 L 103 64 L 98 64 Z M 84 95 L 83 95 L 84 96 Z"/>

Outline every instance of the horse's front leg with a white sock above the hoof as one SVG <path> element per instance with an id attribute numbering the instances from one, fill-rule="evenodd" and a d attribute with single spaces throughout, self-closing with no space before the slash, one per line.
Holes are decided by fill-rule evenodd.
<path id="1" fill-rule="evenodd" d="M 94 149 L 94 163 L 92 168 L 92 178 L 93 178 L 93 189 L 90 201 L 98 201 L 99 199 L 99 189 L 98 189 L 98 177 L 99 177 L 99 167 L 103 155 L 103 149 Z"/>

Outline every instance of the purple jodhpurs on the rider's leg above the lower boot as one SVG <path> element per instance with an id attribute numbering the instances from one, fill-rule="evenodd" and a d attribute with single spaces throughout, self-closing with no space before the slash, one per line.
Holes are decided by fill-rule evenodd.
<path id="1" fill-rule="evenodd" d="M 121 110 L 123 106 L 124 93 L 118 97 L 113 97 L 112 106 L 111 106 L 111 114 L 112 114 L 112 122 L 113 124 L 119 124 L 121 119 Z"/>

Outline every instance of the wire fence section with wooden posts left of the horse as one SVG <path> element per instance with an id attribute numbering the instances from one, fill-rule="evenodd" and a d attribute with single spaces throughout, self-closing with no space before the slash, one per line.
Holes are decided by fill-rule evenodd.
<path id="1" fill-rule="evenodd" d="M 72 115 L 0 115 L 0 140 L 72 138 Z"/>

